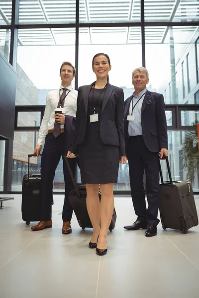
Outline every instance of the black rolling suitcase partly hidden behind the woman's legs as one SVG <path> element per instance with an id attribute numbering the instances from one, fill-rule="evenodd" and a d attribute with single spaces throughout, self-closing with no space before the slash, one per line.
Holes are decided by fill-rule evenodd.
<path id="1" fill-rule="evenodd" d="M 75 215 L 77 217 L 79 225 L 82 227 L 82 229 L 85 229 L 85 227 L 93 227 L 92 223 L 89 218 L 89 214 L 87 211 L 87 205 L 86 205 L 86 197 L 87 197 L 87 191 L 86 191 L 86 185 L 85 184 L 77 184 L 75 181 L 75 177 L 73 175 L 73 172 L 71 170 L 71 167 L 68 162 L 68 158 L 66 155 L 63 155 L 64 159 L 66 161 L 66 164 L 68 166 L 71 179 L 73 181 L 75 189 L 72 190 L 69 194 L 69 201 L 71 203 L 71 206 L 73 207 L 73 210 L 75 212 Z M 101 198 L 101 193 L 99 190 L 99 198 Z M 116 222 L 116 212 L 115 209 L 113 210 L 112 220 L 109 226 L 109 230 L 112 231 L 115 227 Z"/>

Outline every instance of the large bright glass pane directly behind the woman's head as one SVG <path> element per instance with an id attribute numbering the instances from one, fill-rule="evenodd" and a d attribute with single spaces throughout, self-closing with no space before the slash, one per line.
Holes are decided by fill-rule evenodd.
<path id="1" fill-rule="evenodd" d="M 101 52 L 110 58 L 110 83 L 122 87 L 126 99 L 133 91 L 132 71 L 142 65 L 140 28 L 80 29 L 79 86 L 91 84 L 96 79 L 92 70 L 92 59 Z"/>

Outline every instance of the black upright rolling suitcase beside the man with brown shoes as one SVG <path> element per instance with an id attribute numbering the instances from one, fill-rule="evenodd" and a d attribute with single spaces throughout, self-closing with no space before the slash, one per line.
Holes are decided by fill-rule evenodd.
<path id="1" fill-rule="evenodd" d="M 22 220 L 26 224 L 39 222 L 41 217 L 41 175 L 29 173 L 30 157 L 32 156 L 36 156 L 36 154 L 28 155 L 28 173 L 24 175 L 22 181 L 21 213 Z"/>

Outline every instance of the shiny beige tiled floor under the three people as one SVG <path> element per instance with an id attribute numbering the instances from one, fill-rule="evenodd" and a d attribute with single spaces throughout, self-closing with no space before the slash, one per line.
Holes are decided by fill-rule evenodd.
<path id="1" fill-rule="evenodd" d="M 199 196 L 195 197 L 199 213 Z M 116 227 L 99 257 L 73 216 L 63 235 L 63 196 L 54 196 L 53 227 L 32 232 L 21 219 L 21 196 L 0 210 L 0 298 L 199 298 L 199 226 L 187 234 L 125 231 L 135 215 L 130 197 L 115 198 Z M 30 224 L 30 226 L 33 223 Z"/>

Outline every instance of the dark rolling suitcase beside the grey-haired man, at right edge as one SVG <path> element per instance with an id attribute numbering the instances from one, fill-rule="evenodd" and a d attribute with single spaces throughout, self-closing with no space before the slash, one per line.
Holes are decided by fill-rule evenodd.
<path id="1" fill-rule="evenodd" d="M 167 162 L 169 181 L 163 182 L 161 177 L 160 218 L 163 229 L 167 227 L 187 233 L 188 229 L 199 224 L 192 185 L 188 181 L 172 181 L 168 157 Z"/>

